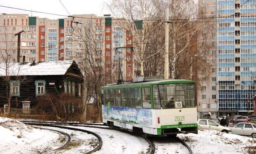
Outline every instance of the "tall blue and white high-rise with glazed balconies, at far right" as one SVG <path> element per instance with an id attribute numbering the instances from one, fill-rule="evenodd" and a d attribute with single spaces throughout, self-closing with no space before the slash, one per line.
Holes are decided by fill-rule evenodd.
<path id="1" fill-rule="evenodd" d="M 218 0 L 218 110 L 253 111 L 256 74 L 256 0 Z"/>

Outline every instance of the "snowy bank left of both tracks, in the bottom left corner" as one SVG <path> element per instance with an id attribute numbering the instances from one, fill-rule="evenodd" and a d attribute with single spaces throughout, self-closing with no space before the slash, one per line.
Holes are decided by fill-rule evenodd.
<path id="1" fill-rule="evenodd" d="M 27 154 L 49 152 L 60 147 L 63 136 L 48 130 L 35 129 L 17 120 L 0 117 L 0 153 Z"/>

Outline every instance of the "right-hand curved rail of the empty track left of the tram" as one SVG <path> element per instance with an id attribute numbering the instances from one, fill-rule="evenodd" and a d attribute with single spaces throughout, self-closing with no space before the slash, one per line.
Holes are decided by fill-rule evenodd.
<path id="1" fill-rule="evenodd" d="M 95 148 L 92 149 L 91 151 L 87 152 L 87 154 L 91 154 L 92 152 L 96 152 L 98 150 L 101 149 L 102 147 L 102 138 L 97 134 L 94 133 L 92 131 L 87 131 L 85 129 L 78 129 L 78 128 L 73 128 L 73 127 L 66 127 L 66 126 L 59 126 L 59 125 L 54 125 L 54 124 L 43 124 L 43 123 L 33 123 L 33 122 L 23 122 L 24 124 L 29 124 L 29 125 L 36 125 L 36 126 L 50 126 L 50 127 L 57 127 L 57 128 L 62 128 L 62 129 L 69 129 L 69 130 L 73 130 L 73 131 L 82 131 L 88 134 L 92 134 L 94 136 L 96 136 L 99 140 L 99 145 Z"/>

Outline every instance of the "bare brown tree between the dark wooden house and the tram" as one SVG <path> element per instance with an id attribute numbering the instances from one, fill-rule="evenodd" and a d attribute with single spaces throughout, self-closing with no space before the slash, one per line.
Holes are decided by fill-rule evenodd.
<path id="1" fill-rule="evenodd" d="M 81 46 L 81 51 L 77 52 L 74 59 L 77 60 L 78 67 L 84 76 L 83 117 L 86 117 L 86 104 L 91 99 L 97 108 L 95 117 L 97 117 L 96 121 L 99 122 L 102 118 L 100 87 L 104 84 L 104 55 L 102 52 L 104 29 L 99 26 L 96 31 L 94 20 L 87 24 L 74 25 L 73 28 L 73 42 Z"/>

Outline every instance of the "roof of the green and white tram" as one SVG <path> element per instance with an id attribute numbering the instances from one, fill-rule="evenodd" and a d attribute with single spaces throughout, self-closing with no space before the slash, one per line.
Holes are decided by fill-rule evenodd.
<path id="1" fill-rule="evenodd" d="M 160 84 L 182 84 L 182 83 L 195 83 L 195 81 L 164 79 L 164 80 L 137 82 L 137 83 L 130 82 L 130 83 L 124 83 L 124 84 L 106 85 L 106 86 L 103 86 L 103 88 L 104 87 L 132 86 L 132 85 L 160 85 Z"/>

